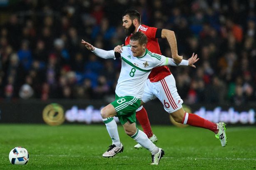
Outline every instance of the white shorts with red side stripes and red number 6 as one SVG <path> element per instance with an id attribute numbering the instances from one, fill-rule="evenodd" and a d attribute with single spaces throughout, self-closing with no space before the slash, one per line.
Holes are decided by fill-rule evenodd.
<path id="1" fill-rule="evenodd" d="M 142 101 L 147 103 L 156 97 L 162 102 L 164 110 L 168 113 L 173 113 L 182 107 L 183 100 L 177 92 L 176 82 L 172 74 L 157 82 L 150 82 L 147 79 Z"/>

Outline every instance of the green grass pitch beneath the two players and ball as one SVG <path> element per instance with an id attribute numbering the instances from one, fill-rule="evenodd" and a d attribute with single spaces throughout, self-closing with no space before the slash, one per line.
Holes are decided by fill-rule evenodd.
<path id="1" fill-rule="evenodd" d="M 165 151 L 159 165 L 150 165 L 151 153 L 135 150 L 135 141 L 119 126 L 124 152 L 113 158 L 102 153 L 111 144 L 104 126 L 0 124 L 0 170 L 255 170 L 256 128 L 227 126 L 223 148 L 214 133 L 202 128 L 153 126 L 157 146 Z M 30 153 L 27 165 L 12 165 L 15 146 Z"/>

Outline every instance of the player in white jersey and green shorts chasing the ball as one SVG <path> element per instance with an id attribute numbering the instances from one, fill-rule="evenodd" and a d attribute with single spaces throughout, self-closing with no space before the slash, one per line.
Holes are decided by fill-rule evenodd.
<path id="1" fill-rule="evenodd" d="M 123 47 L 122 54 L 114 52 L 114 50 L 97 49 L 84 40 L 82 43 L 101 58 L 122 59 L 122 68 L 115 90 L 116 100 L 101 110 L 102 119 L 112 138 L 112 145 L 102 156 L 113 157 L 124 149 L 119 140 L 117 124 L 113 119 L 113 116 L 117 116 L 125 133 L 149 150 L 152 153 L 152 165 L 158 165 L 164 155 L 164 150 L 158 148 L 143 131 L 136 127 L 135 111 L 140 106 L 145 82 L 154 67 L 164 65 L 195 67 L 194 63 L 198 60 L 197 55 L 193 54 L 189 60 L 182 60 L 180 64 L 176 64 L 171 58 L 149 52 L 146 48 L 147 37 L 142 32 L 133 34 L 130 44 Z"/>

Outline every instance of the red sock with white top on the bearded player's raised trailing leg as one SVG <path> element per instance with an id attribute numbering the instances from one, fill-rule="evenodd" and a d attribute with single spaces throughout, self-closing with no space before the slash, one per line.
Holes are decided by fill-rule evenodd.
<path id="1" fill-rule="evenodd" d="M 191 126 L 209 129 L 213 132 L 217 131 L 216 123 L 208 121 L 208 120 L 201 118 L 200 116 L 198 116 L 196 114 L 192 114 L 192 113 L 185 113 L 182 123 L 188 124 Z"/>

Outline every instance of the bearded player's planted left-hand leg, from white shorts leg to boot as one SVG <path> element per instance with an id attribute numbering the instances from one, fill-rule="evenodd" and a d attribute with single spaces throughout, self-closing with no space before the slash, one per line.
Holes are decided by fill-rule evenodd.
<path id="1" fill-rule="evenodd" d="M 149 79 L 147 79 L 147 82 L 145 84 L 144 87 L 144 94 L 142 97 L 142 100 L 144 101 L 149 101 L 154 99 L 154 94 L 152 92 L 152 88 L 150 87 L 150 81 Z M 144 102 L 141 103 L 141 105 Z M 149 122 L 149 118 L 147 116 L 147 111 L 146 109 L 141 106 L 136 110 L 136 118 L 139 121 L 139 124 L 142 126 L 144 133 L 146 133 L 147 137 L 153 142 L 153 143 L 157 143 L 157 136 L 155 136 L 153 134 L 150 122 Z M 140 145 L 139 143 L 137 145 L 134 146 L 134 148 L 139 149 L 142 148 L 142 145 Z"/>

